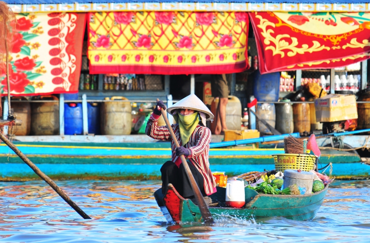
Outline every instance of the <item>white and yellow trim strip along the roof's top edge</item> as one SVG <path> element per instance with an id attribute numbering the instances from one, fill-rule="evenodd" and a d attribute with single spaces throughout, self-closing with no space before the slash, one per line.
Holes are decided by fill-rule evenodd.
<path id="1" fill-rule="evenodd" d="M 368 0 L 5 0 L 16 13 L 50 11 L 368 12 Z"/>

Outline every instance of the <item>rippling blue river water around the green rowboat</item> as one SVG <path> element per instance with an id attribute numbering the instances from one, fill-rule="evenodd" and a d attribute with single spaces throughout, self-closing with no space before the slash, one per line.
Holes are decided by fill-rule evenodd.
<path id="1" fill-rule="evenodd" d="M 223 219 L 166 223 L 153 192 L 160 181 L 57 181 L 83 220 L 42 181 L 0 182 L 0 242 L 369 242 L 370 180 L 334 181 L 311 222 Z"/>

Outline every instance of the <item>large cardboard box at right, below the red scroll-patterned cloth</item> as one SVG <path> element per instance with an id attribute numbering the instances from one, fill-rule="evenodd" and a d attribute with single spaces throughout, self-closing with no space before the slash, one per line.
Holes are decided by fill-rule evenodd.
<path id="1" fill-rule="evenodd" d="M 356 97 L 354 95 L 330 94 L 315 99 L 316 121 L 345 121 L 357 119 Z"/>

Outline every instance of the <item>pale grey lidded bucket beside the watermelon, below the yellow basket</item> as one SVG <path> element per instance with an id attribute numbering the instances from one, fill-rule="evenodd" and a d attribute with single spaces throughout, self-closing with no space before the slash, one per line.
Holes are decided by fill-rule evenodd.
<path id="1" fill-rule="evenodd" d="M 312 185 L 314 183 L 314 174 L 311 172 L 297 170 L 285 170 L 284 171 L 284 183 L 283 187 L 287 188 L 296 184 L 301 190 L 305 190 L 304 194 L 310 194 L 312 192 Z"/>

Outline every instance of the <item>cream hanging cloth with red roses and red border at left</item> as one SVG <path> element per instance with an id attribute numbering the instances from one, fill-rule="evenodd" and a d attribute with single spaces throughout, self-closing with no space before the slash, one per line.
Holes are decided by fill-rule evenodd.
<path id="1" fill-rule="evenodd" d="M 78 92 L 86 14 L 17 14 L 10 92 L 15 96 Z M 2 70 L 1 94 L 7 83 Z"/>

